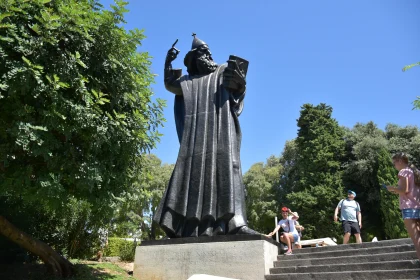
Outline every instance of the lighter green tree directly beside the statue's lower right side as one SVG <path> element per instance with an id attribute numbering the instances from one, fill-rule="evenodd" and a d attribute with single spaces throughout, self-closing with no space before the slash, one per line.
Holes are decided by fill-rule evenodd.
<path id="1" fill-rule="evenodd" d="M 248 223 L 262 233 L 270 232 L 274 226 L 278 208 L 275 195 L 281 172 L 279 159 L 270 156 L 266 164 L 252 165 L 243 177 Z"/>

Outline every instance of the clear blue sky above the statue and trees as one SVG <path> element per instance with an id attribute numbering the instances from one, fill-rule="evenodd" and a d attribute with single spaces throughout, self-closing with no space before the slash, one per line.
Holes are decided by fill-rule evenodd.
<path id="1" fill-rule="evenodd" d="M 102 0 L 105 7 L 113 1 Z M 155 153 L 175 163 L 179 143 L 173 95 L 163 84 L 167 50 L 178 38 L 174 62 L 183 65 L 191 33 L 204 40 L 217 63 L 230 54 L 250 61 L 245 108 L 240 116 L 243 172 L 280 155 L 297 135 L 304 103 L 326 103 L 340 125 L 357 122 L 419 125 L 411 102 L 420 95 L 418 0 L 132 0 L 127 29 L 145 30 L 140 51 L 153 57 L 155 96 L 167 100 L 164 136 Z"/>

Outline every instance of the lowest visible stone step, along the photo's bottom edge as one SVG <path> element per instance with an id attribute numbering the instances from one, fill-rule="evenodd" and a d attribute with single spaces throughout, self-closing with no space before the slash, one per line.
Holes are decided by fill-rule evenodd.
<path id="1" fill-rule="evenodd" d="M 351 267 L 349 266 L 349 269 Z M 420 269 L 400 270 L 371 270 L 371 271 L 339 271 L 339 272 L 317 272 L 317 273 L 289 273 L 266 275 L 266 280 L 375 280 L 375 279 L 416 279 L 420 275 Z"/>

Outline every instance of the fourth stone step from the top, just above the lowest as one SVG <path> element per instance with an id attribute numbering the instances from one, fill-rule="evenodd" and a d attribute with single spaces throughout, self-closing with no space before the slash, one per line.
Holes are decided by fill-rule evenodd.
<path id="1" fill-rule="evenodd" d="M 289 266 L 271 268 L 270 274 L 284 273 L 313 273 L 313 272 L 339 272 L 348 271 L 370 271 L 370 270 L 397 270 L 397 269 L 420 269 L 419 260 L 398 260 L 389 262 L 371 262 L 354 264 L 328 264 L 312 266 Z"/>

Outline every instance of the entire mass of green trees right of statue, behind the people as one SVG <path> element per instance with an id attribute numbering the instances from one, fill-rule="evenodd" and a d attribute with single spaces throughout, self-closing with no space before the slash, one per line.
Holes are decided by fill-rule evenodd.
<path id="1" fill-rule="evenodd" d="M 362 208 L 363 240 L 407 237 L 398 196 L 381 185 L 397 183 L 392 154 L 405 152 L 420 165 L 419 128 L 388 124 L 382 130 L 374 122 L 340 127 L 326 104 L 303 105 L 297 125 L 297 137 L 286 142 L 279 158 L 256 163 L 244 175 L 250 226 L 267 233 L 279 208 L 288 206 L 299 213 L 303 239 L 335 237 L 341 242 L 333 213 L 350 189 Z M 267 174 L 271 166 L 277 178 Z"/>

